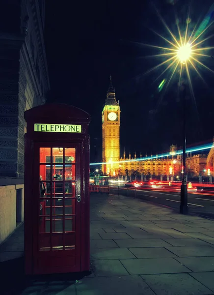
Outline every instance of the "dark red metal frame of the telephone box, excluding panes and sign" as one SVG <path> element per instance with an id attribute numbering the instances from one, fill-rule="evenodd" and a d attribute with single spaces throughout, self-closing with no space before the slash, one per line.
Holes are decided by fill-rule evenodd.
<path id="1" fill-rule="evenodd" d="M 25 134 L 25 272 L 26 274 L 43 274 L 90 270 L 88 135 L 90 116 L 73 106 L 47 104 L 26 111 L 25 119 L 27 121 L 27 133 Z M 81 133 L 35 132 L 34 123 L 81 124 L 82 130 Z M 76 193 L 80 193 L 81 196 L 81 202 L 77 205 L 80 205 L 80 261 L 75 267 L 66 265 L 66 253 L 62 254 L 62 252 L 70 252 L 69 250 L 50 251 L 54 255 L 52 260 L 47 259 L 45 255 L 41 260 L 38 258 L 40 267 L 36 266 L 34 259 L 35 255 L 37 257 L 40 255 L 40 253 L 38 254 L 38 246 L 35 246 L 35 244 L 38 244 L 39 233 L 39 209 L 36 209 L 36 207 L 39 208 L 36 206 L 36 202 L 38 202 L 37 198 L 40 196 L 39 185 L 36 186 L 36 183 L 39 183 L 39 179 L 37 180 L 39 171 L 38 148 L 53 145 L 57 148 L 79 147 L 77 157 L 79 163 L 76 164 L 76 167 L 79 165 L 79 168 L 76 169 Z M 65 169 L 65 166 L 63 169 Z M 77 224 L 78 220 L 75 221 Z M 45 254 L 48 252 L 44 251 Z M 75 265 L 75 261 L 73 265 Z"/>

